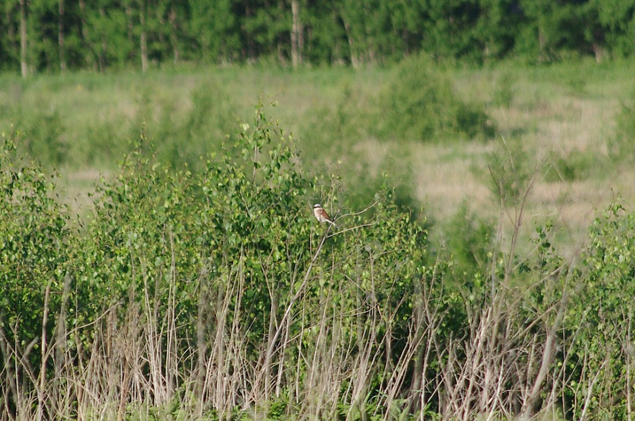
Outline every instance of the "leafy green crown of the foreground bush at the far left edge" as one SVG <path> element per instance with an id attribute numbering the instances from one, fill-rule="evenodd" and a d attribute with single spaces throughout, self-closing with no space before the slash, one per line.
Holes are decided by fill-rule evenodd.
<path id="1" fill-rule="evenodd" d="M 2 256 L 2 306 L 5 326 L 20 325 L 29 341 L 42 321 L 44 289 L 57 289 L 68 259 L 68 215 L 53 199 L 54 185 L 32 163 L 12 156 L 12 138 L 3 138 L 0 154 L 0 253 Z M 59 297 L 57 297 L 59 298 Z M 53 301 L 57 301 L 53 298 Z"/>

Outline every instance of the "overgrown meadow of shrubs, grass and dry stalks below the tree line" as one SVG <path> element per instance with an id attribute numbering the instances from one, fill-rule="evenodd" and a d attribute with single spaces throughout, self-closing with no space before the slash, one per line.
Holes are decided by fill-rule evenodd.
<path id="1" fill-rule="evenodd" d="M 3 75 L 0 420 L 631 419 L 631 68 Z"/>

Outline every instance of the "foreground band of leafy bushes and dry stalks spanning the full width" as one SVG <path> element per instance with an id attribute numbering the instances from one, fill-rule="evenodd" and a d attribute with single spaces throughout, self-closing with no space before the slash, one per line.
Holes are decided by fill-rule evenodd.
<path id="1" fill-rule="evenodd" d="M 3 140 L 0 420 L 635 412 L 634 214 L 598 215 L 578 261 L 549 225 L 519 257 L 535 175 L 507 154 L 512 240 L 464 212 L 444 257 L 390 190 L 346 211 L 261 107 L 201 172 L 141 137 L 86 222 Z"/>

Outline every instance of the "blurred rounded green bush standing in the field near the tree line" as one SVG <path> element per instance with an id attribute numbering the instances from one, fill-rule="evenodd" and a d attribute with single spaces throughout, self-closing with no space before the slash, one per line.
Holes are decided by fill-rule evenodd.
<path id="1" fill-rule="evenodd" d="M 398 66 L 379 104 L 380 133 L 387 138 L 442 141 L 494 134 L 484 109 L 458 98 L 451 82 L 424 55 Z"/>

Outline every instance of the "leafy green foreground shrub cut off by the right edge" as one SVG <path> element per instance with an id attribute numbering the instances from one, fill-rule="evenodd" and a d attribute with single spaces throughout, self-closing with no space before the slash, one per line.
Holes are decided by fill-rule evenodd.
<path id="1" fill-rule="evenodd" d="M 571 364 L 571 400 L 587 402 L 578 407 L 593 418 L 625 419 L 632 413 L 629 379 L 632 361 L 635 302 L 635 213 L 611 204 L 589 228 L 589 246 L 574 273 L 576 293 L 567 308 L 569 346 L 577 366 Z M 585 385 L 585 386 L 582 386 Z M 588 386 L 586 386 L 588 385 Z"/>

